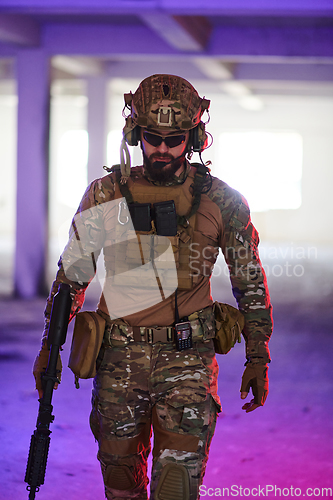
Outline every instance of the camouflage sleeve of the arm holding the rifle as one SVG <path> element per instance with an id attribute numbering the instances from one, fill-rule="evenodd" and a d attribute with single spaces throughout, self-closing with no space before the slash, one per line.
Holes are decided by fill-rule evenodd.
<path id="1" fill-rule="evenodd" d="M 57 293 L 60 283 L 68 283 L 71 286 L 72 308 L 70 321 L 78 313 L 83 305 L 85 291 L 96 273 L 96 262 L 103 247 L 103 222 L 101 220 L 101 211 L 92 211 L 93 207 L 102 205 L 104 202 L 112 199 L 114 194 L 114 185 L 111 176 L 105 176 L 102 179 L 93 181 L 86 189 L 80 205 L 73 217 L 69 231 L 68 243 L 60 256 L 58 262 L 58 272 L 52 284 L 50 294 L 46 301 L 44 310 L 44 333 L 42 346 L 45 345 L 47 338 L 49 321 L 53 297 Z M 82 250 L 82 235 L 80 227 L 87 231 L 85 238 L 93 242 L 92 248 Z M 80 238 L 81 236 L 81 238 Z M 78 258 L 78 243 L 80 246 Z"/>

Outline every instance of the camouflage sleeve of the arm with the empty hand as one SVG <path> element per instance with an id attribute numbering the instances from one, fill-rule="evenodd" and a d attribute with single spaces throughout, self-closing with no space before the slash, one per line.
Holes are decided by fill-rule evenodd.
<path id="1" fill-rule="evenodd" d="M 259 236 L 243 196 L 222 181 L 214 182 L 212 195 L 224 225 L 220 241 L 229 268 L 232 292 L 245 317 L 246 358 L 270 362 L 268 341 L 273 329 L 272 306 L 265 271 L 259 258 Z"/>

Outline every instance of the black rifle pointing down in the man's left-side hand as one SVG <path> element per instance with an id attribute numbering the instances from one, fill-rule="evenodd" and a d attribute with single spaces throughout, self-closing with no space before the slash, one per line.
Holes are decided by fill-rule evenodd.
<path id="1" fill-rule="evenodd" d="M 36 430 L 31 436 L 27 470 L 24 481 L 28 483 L 29 500 L 34 500 L 39 487 L 44 484 L 47 456 L 50 446 L 49 427 L 54 420 L 52 415 L 52 395 L 57 378 L 57 361 L 60 347 L 66 342 L 67 327 L 71 311 L 72 299 L 70 286 L 66 283 L 59 285 L 52 303 L 47 347 L 50 349 L 47 369 L 42 375 L 43 396 L 39 399 L 39 410 Z"/>

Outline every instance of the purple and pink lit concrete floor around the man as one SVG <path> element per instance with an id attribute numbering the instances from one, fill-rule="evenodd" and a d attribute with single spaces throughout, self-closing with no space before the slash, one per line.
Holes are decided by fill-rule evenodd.
<path id="1" fill-rule="evenodd" d="M 333 273 L 311 266 L 307 263 L 305 277 L 299 279 L 269 277 L 275 331 L 270 343 L 271 389 L 263 408 L 250 414 L 241 410 L 244 344 L 219 356 L 223 413 L 201 498 L 227 496 L 226 488 L 231 497 L 294 498 L 312 493 L 326 498 L 322 488 L 331 488 L 332 496 Z M 215 299 L 233 303 L 225 282 L 215 279 L 213 293 Z M 24 476 L 38 410 L 31 365 L 39 348 L 44 302 L 9 296 L 0 300 L 0 500 L 28 498 Z M 90 307 L 94 307 L 92 297 L 85 306 Z M 71 327 L 64 364 L 70 336 Z M 90 390 L 89 380 L 76 390 L 72 373 L 64 370 L 54 393 L 56 419 L 51 425 L 45 485 L 37 499 L 104 498 L 97 447 L 88 426 Z"/>

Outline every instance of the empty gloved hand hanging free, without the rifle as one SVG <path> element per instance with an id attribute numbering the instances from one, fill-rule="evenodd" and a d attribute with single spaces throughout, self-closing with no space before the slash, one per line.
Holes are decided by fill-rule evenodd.
<path id="1" fill-rule="evenodd" d="M 255 410 L 259 406 L 263 406 L 268 396 L 268 366 L 260 364 L 248 363 L 243 373 L 242 385 L 240 388 L 241 398 L 245 399 L 248 396 L 250 388 L 254 398 L 250 403 L 245 403 L 242 410 L 246 413 Z"/>

